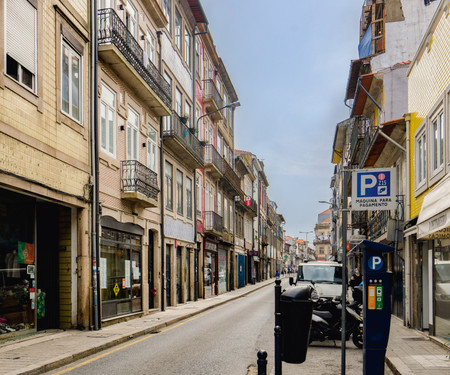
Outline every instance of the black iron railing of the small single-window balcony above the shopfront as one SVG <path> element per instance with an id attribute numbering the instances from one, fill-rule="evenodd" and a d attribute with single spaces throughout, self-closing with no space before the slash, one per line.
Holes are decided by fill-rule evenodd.
<path id="1" fill-rule="evenodd" d="M 137 192 L 158 200 L 158 175 L 137 160 L 123 160 L 122 191 Z"/>

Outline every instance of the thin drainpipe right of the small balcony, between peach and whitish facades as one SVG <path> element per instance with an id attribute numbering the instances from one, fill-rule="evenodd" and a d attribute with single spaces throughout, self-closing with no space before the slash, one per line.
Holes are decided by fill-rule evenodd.
<path id="1" fill-rule="evenodd" d="M 161 47 L 161 31 L 156 33 L 158 37 L 158 46 L 159 46 L 159 72 L 162 73 L 162 47 Z M 165 266 L 165 258 L 164 258 L 164 123 L 162 116 L 159 118 L 159 183 L 161 186 L 160 193 L 160 216 L 161 216 L 161 224 L 160 224 L 160 232 L 161 232 L 161 311 L 164 311 L 164 291 L 165 291 L 165 275 L 164 275 L 164 266 Z"/>

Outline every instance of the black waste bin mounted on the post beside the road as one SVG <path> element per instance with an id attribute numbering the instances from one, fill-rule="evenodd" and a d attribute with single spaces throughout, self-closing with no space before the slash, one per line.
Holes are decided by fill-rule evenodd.
<path id="1" fill-rule="evenodd" d="M 296 286 L 280 297 L 281 360 L 303 363 L 309 344 L 313 302 L 313 287 Z"/>

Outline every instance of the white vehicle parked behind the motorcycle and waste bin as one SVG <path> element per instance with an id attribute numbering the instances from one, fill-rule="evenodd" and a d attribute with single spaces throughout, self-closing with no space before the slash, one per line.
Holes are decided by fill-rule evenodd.
<path id="1" fill-rule="evenodd" d="M 319 297 L 342 296 L 342 264 L 334 261 L 312 261 L 300 263 L 297 276 L 290 278 L 295 285 L 312 284 Z"/>

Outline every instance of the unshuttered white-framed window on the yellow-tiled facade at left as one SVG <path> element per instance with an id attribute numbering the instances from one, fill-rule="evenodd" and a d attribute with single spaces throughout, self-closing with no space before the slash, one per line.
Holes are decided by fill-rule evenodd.
<path id="1" fill-rule="evenodd" d="M 81 120 L 81 56 L 62 41 L 61 109 L 76 121 Z"/>

